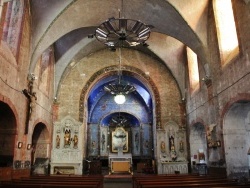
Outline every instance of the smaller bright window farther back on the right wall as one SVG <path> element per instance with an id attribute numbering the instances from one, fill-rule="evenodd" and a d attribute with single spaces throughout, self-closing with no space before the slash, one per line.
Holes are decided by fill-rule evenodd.
<path id="1" fill-rule="evenodd" d="M 187 47 L 188 73 L 191 92 L 200 88 L 198 59 L 196 53 Z"/>

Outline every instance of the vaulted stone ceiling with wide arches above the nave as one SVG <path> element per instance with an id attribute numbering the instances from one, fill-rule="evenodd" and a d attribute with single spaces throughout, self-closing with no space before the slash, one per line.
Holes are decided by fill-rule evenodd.
<path id="1" fill-rule="evenodd" d="M 184 90 L 181 57 L 185 46 L 207 67 L 207 10 L 209 0 L 31 0 L 32 50 L 30 72 L 49 46 L 55 48 L 55 83 L 66 67 L 106 48 L 95 37 L 95 29 L 111 17 L 135 19 L 153 26 L 143 53 L 157 56 L 170 69 Z M 122 7 L 123 4 L 123 7 Z M 121 9 L 122 8 L 122 9 Z M 206 71 L 206 69 L 204 69 Z"/>

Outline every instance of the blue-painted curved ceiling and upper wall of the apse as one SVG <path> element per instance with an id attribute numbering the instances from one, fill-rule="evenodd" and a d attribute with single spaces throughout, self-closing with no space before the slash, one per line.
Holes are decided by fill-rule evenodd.
<path id="1" fill-rule="evenodd" d="M 104 90 L 105 85 L 118 83 L 117 75 L 103 78 L 95 84 L 88 97 L 88 123 L 112 126 L 115 118 L 125 118 L 130 126 L 152 124 L 152 97 L 147 87 L 128 75 L 122 75 L 121 82 L 136 88 L 136 91 L 126 95 L 124 104 L 115 103 L 114 95 Z"/>

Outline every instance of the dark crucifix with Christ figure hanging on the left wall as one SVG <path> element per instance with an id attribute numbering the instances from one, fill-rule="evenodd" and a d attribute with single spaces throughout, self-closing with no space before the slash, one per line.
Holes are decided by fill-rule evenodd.
<path id="1" fill-rule="evenodd" d="M 29 120 L 31 120 L 32 113 L 35 109 L 35 103 L 37 100 L 36 92 L 33 91 L 33 84 L 36 77 L 34 74 L 29 74 L 28 76 L 28 89 L 22 90 L 22 93 L 28 99 L 27 101 L 27 115 L 26 115 L 26 124 L 25 124 L 25 134 L 28 133 Z"/>

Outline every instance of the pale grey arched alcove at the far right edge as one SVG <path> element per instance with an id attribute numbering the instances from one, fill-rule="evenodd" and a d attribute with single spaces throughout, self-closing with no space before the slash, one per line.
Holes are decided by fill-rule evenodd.
<path id="1" fill-rule="evenodd" d="M 250 101 L 238 100 L 224 116 L 224 149 L 227 175 L 248 177 L 250 149 Z"/>

